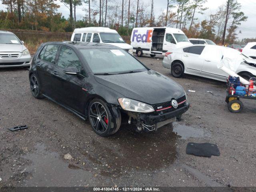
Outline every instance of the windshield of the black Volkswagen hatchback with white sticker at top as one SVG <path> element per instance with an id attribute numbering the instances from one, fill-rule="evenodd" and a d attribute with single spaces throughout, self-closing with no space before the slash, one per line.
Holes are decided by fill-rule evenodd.
<path id="1" fill-rule="evenodd" d="M 148 69 L 121 49 L 80 49 L 95 75 L 143 72 Z"/>

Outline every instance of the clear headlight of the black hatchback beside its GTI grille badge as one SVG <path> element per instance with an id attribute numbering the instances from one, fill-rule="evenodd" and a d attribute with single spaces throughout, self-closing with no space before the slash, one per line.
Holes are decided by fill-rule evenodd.
<path id="1" fill-rule="evenodd" d="M 122 97 L 118 99 L 118 102 L 120 106 L 127 111 L 141 112 L 141 113 L 150 113 L 155 111 L 151 105 L 148 105 L 146 103 L 142 103 L 140 101 L 136 101 L 133 99 Z"/>

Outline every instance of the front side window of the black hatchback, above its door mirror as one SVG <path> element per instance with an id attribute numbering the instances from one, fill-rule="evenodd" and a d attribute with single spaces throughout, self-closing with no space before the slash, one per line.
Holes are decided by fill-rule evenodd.
<path id="1" fill-rule="evenodd" d="M 62 68 L 67 68 L 67 67 L 76 67 L 80 71 L 81 68 L 81 62 L 74 52 L 74 50 L 62 46 L 60 48 L 60 55 L 58 58 L 58 66 Z"/>

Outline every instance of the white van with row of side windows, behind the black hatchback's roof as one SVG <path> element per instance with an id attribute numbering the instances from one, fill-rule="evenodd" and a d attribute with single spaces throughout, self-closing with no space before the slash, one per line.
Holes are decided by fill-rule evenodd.
<path id="1" fill-rule="evenodd" d="M 125 43 L 116 30 L 107 27 L 76 28 L 71 36 L 71 41 L 111 44 L 132 54 L 132 46 Z"/>

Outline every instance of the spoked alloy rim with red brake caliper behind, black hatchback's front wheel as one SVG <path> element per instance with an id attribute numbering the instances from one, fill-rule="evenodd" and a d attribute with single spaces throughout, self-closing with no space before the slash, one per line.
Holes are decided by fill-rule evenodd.
<path id="1" fill-rule="evenodd" d="M 108 114 L 104 106 L 94 102 L 90 107 L 90 122 L 96 132 L 104 133 L 108 128 Z"/>

